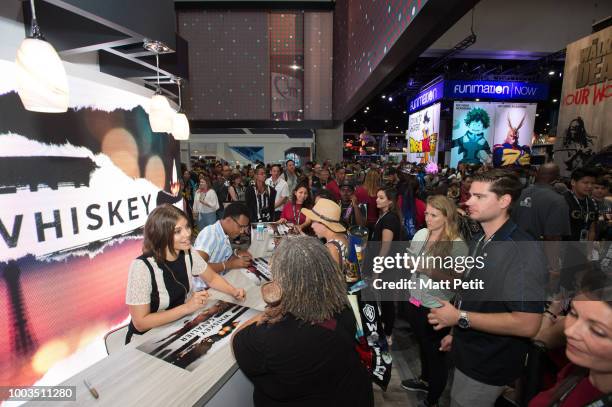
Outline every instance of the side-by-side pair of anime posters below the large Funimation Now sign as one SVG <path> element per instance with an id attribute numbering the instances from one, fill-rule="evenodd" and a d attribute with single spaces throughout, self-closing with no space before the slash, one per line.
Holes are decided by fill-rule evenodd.
<path id="1" fill-rule="evenodd" d="M 536 104 L 455 102 L 451 166 L 529 164 Z"/>

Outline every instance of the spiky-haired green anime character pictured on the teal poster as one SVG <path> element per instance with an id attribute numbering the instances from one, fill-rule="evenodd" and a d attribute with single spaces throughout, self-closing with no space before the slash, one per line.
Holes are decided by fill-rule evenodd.
<path id="1" fill-rule="evenodd" d="M 465 117 L 468 130 L 463 137 L 453 140 L 452 147 L 459 147 L 462 157 L 459 164 L 487 164 L 491 161 L 491 147 L 485 137 L 484 130 L 489 128 L 489 114 L 480 107 L 470 110 Z"/>

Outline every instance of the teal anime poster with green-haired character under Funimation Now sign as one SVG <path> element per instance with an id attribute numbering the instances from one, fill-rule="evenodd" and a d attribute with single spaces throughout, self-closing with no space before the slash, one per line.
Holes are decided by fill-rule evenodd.
<path id="1" fill-rule="evenodd" d="M 455 102 L 451 167 L 492 161 L 494 120 L 495 105 L 492 103 Z"/>

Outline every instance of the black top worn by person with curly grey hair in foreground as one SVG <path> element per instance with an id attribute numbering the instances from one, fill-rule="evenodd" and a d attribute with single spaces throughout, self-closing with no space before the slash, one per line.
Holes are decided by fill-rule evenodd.
<path id="1" fill-rule="evenodd" d="M 287 315 L 234 337 L 238 366 L 261 406 L 373 406 L 372 383 L 355 350 L 355 317 L 346 308 L 312 325 Z"/>

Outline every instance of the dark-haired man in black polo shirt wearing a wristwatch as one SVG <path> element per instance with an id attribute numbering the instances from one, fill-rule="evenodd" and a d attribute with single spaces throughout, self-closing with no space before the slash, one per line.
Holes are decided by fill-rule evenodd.
<path id="1" fill-rule="evenodd" d="M 470 242 L 476 262 L 455 305 L 439 300 L 442 306 L 428 315 L 436 330 L 453 327 L 441 341 L 455 362 L 451 406 L 492 407 L 522 374 L 530 338 L 540 328 L 546 266 L 537 242 L 510 219 L 520 191 L 520 181 L 503 170 L 474 177 L 467 205 L 484 230 Z"/>

